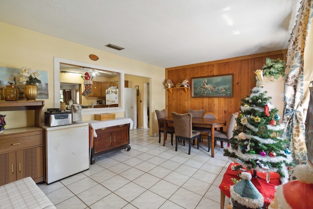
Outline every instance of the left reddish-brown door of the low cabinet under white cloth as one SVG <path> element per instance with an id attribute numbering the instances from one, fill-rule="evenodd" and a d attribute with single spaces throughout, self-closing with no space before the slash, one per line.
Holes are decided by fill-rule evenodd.
<path id="1" fill-rule="evenodd" d="M 97 137 L 93 139 L 94 153 L 113 148 L 112 131 L 96 131 Z"/>

